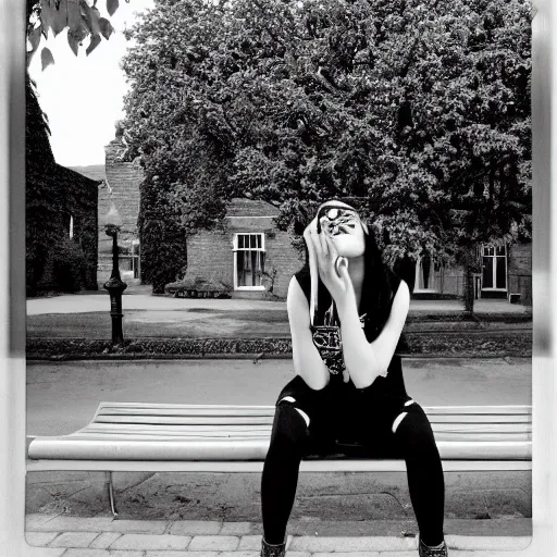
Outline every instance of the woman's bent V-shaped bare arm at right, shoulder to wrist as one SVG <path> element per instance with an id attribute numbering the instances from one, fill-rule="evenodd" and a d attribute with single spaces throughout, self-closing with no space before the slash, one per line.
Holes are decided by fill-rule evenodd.
<path id="1" fill-rule="evenodd" d="M 356 301 L 338 307 L 344 362 L 357 388 L 371 385 L 379 375 L 385 376 L 405 326 L 410 307 L 410 290 L 400 281 L 393 306 L 383 331 L 372 343 L 368 343 L 361 329 Z"/>

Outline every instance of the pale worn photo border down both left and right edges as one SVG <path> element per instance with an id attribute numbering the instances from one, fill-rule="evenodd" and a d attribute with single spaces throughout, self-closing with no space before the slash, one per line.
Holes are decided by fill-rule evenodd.
<path id="1" fill-rule="evenodd" d="M 132 0 L 133 1 L 133 0 Z M 533 537 L 512 556 L 557 548 L 557 5 L 534 1 L 533 125 Z M 0 548 L 38 556 L 25 543 L 25 2 L 0 0 Z M 552 134 L 552 131 L 554 132 Z M 552 219 L 553 216 L 553 219 Z M 484 552 L 474 552 L 480 556 Z M 485 553 L 487 555 L 487 553 Z"/>

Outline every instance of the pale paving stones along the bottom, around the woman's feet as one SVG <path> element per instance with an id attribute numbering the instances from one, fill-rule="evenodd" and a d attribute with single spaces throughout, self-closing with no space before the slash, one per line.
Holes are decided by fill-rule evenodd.
<path id="1" fill-rule="evenodd" d="M 507 521 L 509 522 L 509 521 Z M 290 535 L 287 557 L 416 557 L 418 540 L 403 533 L 381 531 L 373 535 Z M 258 557 L 260 524 L 222 521 L 136 521 L 108 517 L 78 518 L 28 515 L 26 540 L 45 548 L 47 557 Z M 445 529 L 447 532 L 447 529 Z M 531 536 L 458 535 L 446 533 L 451 557 L 471 555 L 502 557 L 506 552 L 525 548 Z M 516 532 L 516 530 L 515 530 Z M 48 548 L 48 549 L 47 549 Z"/>

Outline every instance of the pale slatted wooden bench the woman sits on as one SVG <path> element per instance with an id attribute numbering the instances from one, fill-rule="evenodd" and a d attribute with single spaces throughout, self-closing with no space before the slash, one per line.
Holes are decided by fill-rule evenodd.
<path id="1" fill-rule="evenodd" d="M 423 407 L 445 471 L 531 470 L 530 406 Z M 112 472 L 260 472 L 272 406 L 101 403 L 70 435 L 33 437 L 27 471 L 101 470 L 117 517 Z M 308 458 L 300 472 L 405 471 L 400 459 Z"/>

